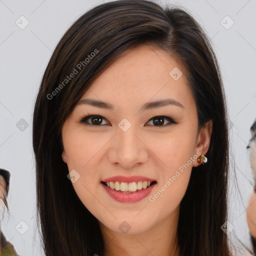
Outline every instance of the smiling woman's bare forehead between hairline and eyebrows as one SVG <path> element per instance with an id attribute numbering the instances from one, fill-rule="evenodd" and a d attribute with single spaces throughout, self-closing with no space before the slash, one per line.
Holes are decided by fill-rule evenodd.
<path id="1" fill-rule="evenodd" d="M 170 96 L 189 105 L 193 98 L 185 75 L 180 61 L 168 52 L 140 45 L 116 59 L 81 98 L 135 104 Z"/>

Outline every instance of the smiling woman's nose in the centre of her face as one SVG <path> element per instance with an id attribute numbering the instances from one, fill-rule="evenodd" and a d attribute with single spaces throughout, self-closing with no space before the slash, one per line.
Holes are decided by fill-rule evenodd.
<path id="1" fill-rule="evenodd" d="M 123 168 L 133 168 L 145 163 L 148 155 L 148 147 L 133 125 L 126 131 L 117 128 L 117 133 L 108 149 L 110 163 L 121 165 Z"/>

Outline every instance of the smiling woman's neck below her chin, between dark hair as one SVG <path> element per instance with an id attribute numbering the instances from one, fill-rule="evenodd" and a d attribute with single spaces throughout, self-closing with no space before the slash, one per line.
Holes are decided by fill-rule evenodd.
<path id="1" fill-rule="evenodd" d="M 178 213 L 179 206 L 151 228 L 136 234 L 115 232 L 100 223 L 104 256 L 179 256 Z"/>

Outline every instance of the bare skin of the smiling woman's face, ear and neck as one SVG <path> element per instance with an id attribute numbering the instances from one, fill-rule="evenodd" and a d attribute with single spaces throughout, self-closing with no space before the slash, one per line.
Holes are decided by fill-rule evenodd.
<path id="1" fill-rule="evenodd" d="M 175 66 L 183 72 L 178 80 L 169 75 Z M 179 255 L 179 204 L 192 166 L 199 165 L 196 160 L 154 202 L 148 197 L 132 203 L 117 202 L 105 192 L 100 181 L 114 175 L 153 178 L 157 184 L 150 196 L 189 157 L 197 151 L 207 152 L 212 121 L 197 136 L 196 105 L 185 69 L 161 49 L 138 46 L 101 73 L 80 99 L 85 98 L 109 102 L 114 108 L 77 104 L 62 126 L 62 157 L 69 171 L 75 169 L 80 174 L 72 185 L 81 202 L 99 221 L 104 255 Z M 165 105 L 141 110 L 148 101 L 166 98 L 179 101 L 183 107 Z M 101 126 L 79 123 L 88 112 L 105 118 Z M 162 127 L 156 126 L 150 119 L 159 115 L 178 123 L 164 119 Z M 131 123 L 125 132 L 118 126 L 123 118 Z M 91 123 L 92 119 L 87 121 Z M 123 221 L 130 226 L 127 233 L 118 228 Z"/>

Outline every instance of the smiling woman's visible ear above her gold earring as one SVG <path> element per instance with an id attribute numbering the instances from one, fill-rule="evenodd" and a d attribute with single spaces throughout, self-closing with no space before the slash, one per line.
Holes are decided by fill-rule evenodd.
<path id="1" fill-rule="evenodd" d="M 195 147 L 195 154 L 196 152 L 200 152 L 201 154 L 206 154 L 210 145 L 210 137 L 211 137 L 211 133 L 212 133 L 212 119 L 210 119 L 209 121 L 207 121 L 204 126 L 201 128 L 197 139 L 196 139 L 196 147 Z M 198 155 L 198 157 L 200 156 Z M 197 161 L 193 162 L 193 167 L 198 166 L 199 163 Z"/>

